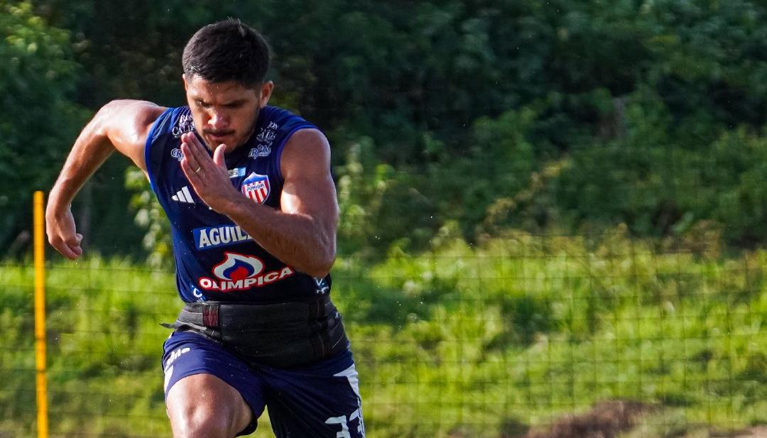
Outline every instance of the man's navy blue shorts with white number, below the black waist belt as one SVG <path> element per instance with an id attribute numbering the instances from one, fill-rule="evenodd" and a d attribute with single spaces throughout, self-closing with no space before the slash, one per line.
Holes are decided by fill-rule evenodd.
<path id="1" fill-rule="evenodd" d="M 221 344 L 193 331 L 173 332 L 163 344 L 165 396 L 183 377 L 212 374 L 234 387 L 253 411 L 239 435 L 255 431 L 269 409 L 278 438 L 364 437 L 357 370 L 351 351 L 309 367 L 281 370 L 248 365 Z"/>

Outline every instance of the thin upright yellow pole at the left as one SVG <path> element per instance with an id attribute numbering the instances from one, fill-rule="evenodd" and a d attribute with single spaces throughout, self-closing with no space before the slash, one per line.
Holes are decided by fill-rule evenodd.
<path id="1" fill-rule="evenodd" d="M 37 369 L 38 438 L 48 438 L 48 390 L 45 378 L 45 222 L 43 193 L 35 192 L 35 368 Z"/>

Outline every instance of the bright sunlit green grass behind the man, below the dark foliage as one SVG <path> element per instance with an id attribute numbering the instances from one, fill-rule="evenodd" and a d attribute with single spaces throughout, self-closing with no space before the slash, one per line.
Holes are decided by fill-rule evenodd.
<path id="1" fill-rule="evenodd" d="M 680 242 L 676 242 L 679 244 Z M 369 436 L 524 436 L 604 400 L 650 407 L 625 436 L 767 422 L 767 252 L 627 239 L 445 237 L 341 258 Z M 32 269 L 0 267 L 0 436 L 35 435 Z M 48 266 L 51 436 L 169 436 L 160 352 L 170 272 Z M 532 427 L 532 430 L 528 430 Z M 262 419 L 256 436 L 271 436 Z"/>

